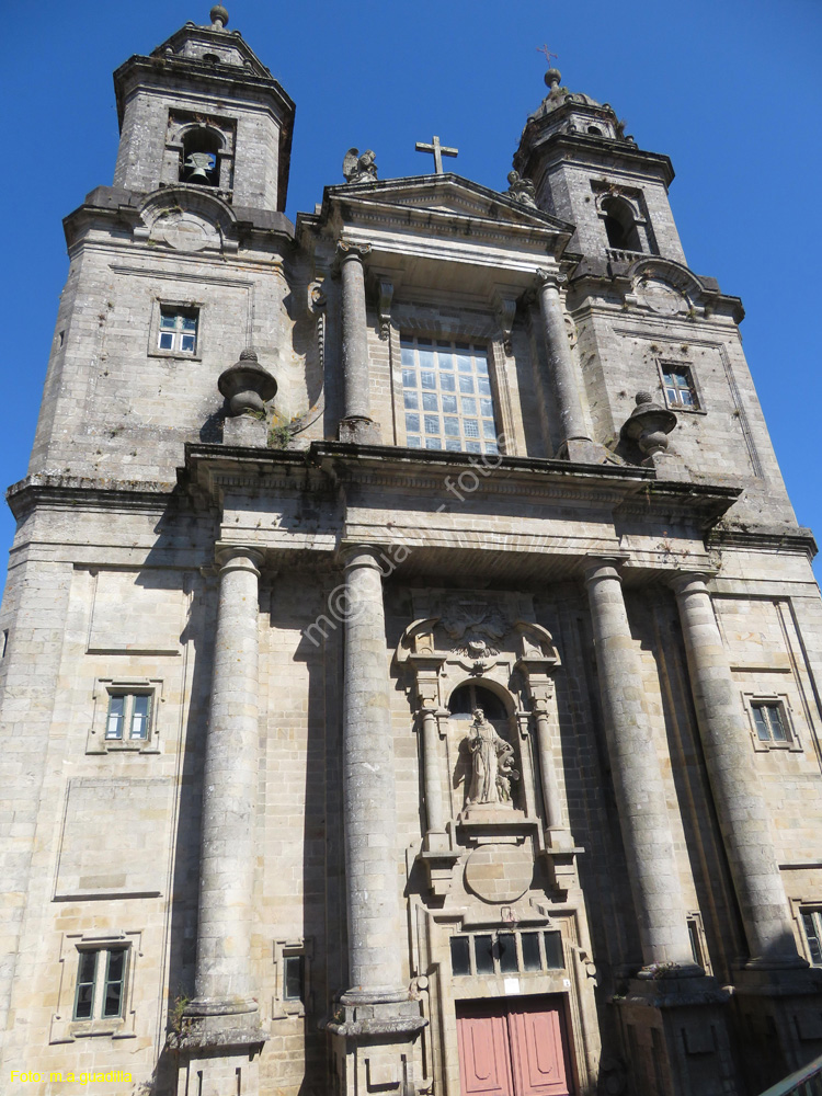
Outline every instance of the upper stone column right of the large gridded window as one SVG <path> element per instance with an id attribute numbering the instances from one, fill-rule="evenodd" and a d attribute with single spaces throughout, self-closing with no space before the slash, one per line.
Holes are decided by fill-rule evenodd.
<path id="1" fill-rule="evenodd" d="M 593 461 L 595 459 L 594 444 L 585 427 L 582 401 L 580 400 L 582 378 L 574 365 L 571 347 L 568 344 L 568 331 L 559 296 L 559 286 L 566 278 L 563 274 L 545 270 L 537 271 L 537 276 L 539 278 L 539 311 L 543 316 L 548 364 L 557 395 L 562 423 L 562 439 L 568 459 Z"/>

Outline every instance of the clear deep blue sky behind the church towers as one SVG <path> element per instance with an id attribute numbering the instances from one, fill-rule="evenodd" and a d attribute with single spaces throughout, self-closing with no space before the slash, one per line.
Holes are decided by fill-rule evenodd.
<path id="1" fill-rule="evenodd" d="M 548 43 L 563 83 L 609 102 L 639 146 L 666 152 L 689 265 L 742 297 L 745 352 L 797 516 L 822 537 L 820 0 L 229 0 L 297 104 L 288 215 L 342 181 L 346 148 L 380 178 L 425 173 L 414 141 L 459 148 L 452 170 L 505 189 Z M 9 410 L 0 483 L 25 475 L 68 264 L 61 218 L 111 183 L 112 71 L 207 0 L 3 4 L 4 191 L 0 358 Z M 229 364 L 229 363 L 226 363 Z M 13 522 L 0 516 L 0 574 Z"/>

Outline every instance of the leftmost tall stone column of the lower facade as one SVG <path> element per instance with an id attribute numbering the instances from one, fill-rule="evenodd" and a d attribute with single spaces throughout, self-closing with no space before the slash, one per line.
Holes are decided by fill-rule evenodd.
<path id="1" fill-rule="evenodd" d="M 186 1016 L 205 1018 L 258 1009 L 251 928 L 262 555 L 231 546 L 219 549 L 217 558 L 220 589 L 203 778 L 195 997 L 186 1008 Z M 249 1028 L 256 1023 L 256 1017 L 233 1021 Z"/>

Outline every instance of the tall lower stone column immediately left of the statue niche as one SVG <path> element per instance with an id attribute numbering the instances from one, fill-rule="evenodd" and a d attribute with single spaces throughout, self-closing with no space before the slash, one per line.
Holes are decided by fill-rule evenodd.
<path id="1" fill-rule="evenodd" d="M 349 907 L 346 1003 L 404 1001 L 393 742 L 383 578 L 375 549 L 345 560 L 343 811 Z"/>

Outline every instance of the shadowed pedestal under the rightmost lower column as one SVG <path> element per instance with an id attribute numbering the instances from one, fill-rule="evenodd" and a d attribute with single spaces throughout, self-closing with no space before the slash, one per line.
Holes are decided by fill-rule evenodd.
<path id="1" fill-rule="evenodd" d="M 822 1053 L 822 970 L 754 960 L 734 972 L 742 1062 L 762 1091 Z"/>

